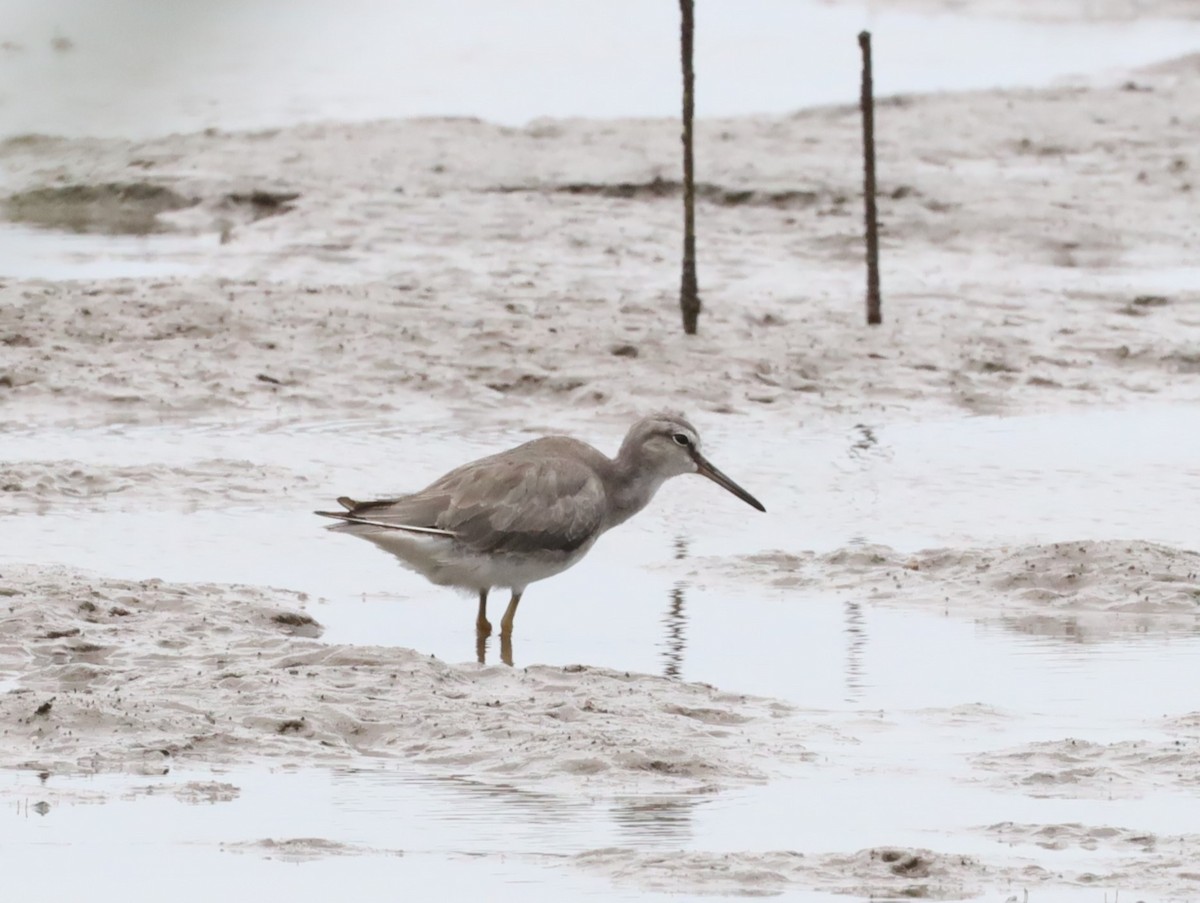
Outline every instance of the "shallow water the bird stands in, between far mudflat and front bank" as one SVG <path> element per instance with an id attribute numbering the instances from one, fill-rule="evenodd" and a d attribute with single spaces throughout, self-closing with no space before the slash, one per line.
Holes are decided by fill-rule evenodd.
<path id="1" fill-rule="evenodd" d="M 98 503 L 64 498 L 34 516 L 0 520 L 0 563 L 61 562 L 113 576 L 300 590 L 320 599 L 312 612 L 330 642 L 388 642 L 473 659 L 473 599 L 427 585 L 368 543 L 323 530 L 325 521 L 312 510 L 343 492 L 365 497 L 419 488 L 445 462 L 527 436 L 475 429 L 467 438 L 442 419 L 350 426 L 10 433 L 10 461 L 76 460 L 86 470 L 230 459 L 246 461 L 247 471 L 287 468 L 296 480 L 277 496 L 242 497 L 228 507 L 169 485 L 179 478 L 163 486 L 174 496 L 167 503 L 120 494 Z M 797 427 L 784 441 L 745 424 L 736 431 L 722 431 L 720 421 L 713 426 L 706 430 L 710 456 L 763 498 L 769 513 L 707 482 L 668 483 L 647 512 L 604 537 L 583 562 L 529 590 L 514 641 L 516 663 L 667 672 L 817 707 L 846 699 L 868 707 L 953 705 L 967 693 L 970 701 L 1003 707 L 1024 710 L 1038 699 L 1046 711 L 1078 711 L 1097 695 L 1096 681 L 1106 681 L 1109 695 L 1120 699 L 1138 668 L 1166 669 L 1168 698 L 1172 686 L 1186 686 L 1169 680 L 1170 669 L 1187 668 L 1200 633 L 1176 633 L 1178 645 L 1165 652 L 1148 635 L 1078 648 L 1003 624 L 946 617 L 940 605 L 901 612 L 851 605 L 820 590 L 739 586 L 707 578 L 704 562 L 692 558 L 862 543 L 916 551 L 1138 538 L 1198 548 L 1200 524 L 1187 500 L 1200 491 L 1200 406 Z M 385 476 L 396 472 L 397 458 L 406 461 L 402 480 Z M 238 465 L 230 467 L 236 474 Z M 492 611 L 503 611 L 504 603 L 497 592 Z M 491 654 L 494 660 L 494 648 Z M 947 696 L 940 675 L 948 656 L 994 662 L 980 674 L 1024 678 L 976 687 L 968 674 Z M 1061 695 L 1046 695 L 1048 683 Z M 797 687 L 804 688 L 799 695 Z M 1186 694 L 1177 701 L 1186 705 Z"/>

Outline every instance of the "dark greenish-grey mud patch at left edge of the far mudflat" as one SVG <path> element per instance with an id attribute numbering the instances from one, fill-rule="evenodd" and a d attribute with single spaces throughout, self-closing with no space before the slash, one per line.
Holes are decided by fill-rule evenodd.
<path id="1" fill-rule="evenodd" d="M 103 235 L 146 235 L 167 232 L 158 214 L 181 210 L 198 203 L 162 185 L 151 183 L 106 183 L 30 189 L 10 195 L 5 216 L 66 232 Z"/>

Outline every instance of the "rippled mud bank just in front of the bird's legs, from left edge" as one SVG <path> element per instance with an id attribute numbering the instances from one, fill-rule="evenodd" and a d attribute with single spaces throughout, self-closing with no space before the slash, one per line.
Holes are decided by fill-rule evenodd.
<path id="1" fill-rule="evenodd" d="M 0 767 L 402 759 L 476 781 L 721 787 L 806 759 L 788 706 L 602 668 L 323 645 L 302 594 L 0 574 Z"/>

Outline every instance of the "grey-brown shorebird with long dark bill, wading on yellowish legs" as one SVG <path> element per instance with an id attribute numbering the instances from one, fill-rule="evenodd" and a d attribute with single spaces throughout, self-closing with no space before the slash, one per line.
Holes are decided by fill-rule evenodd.
<path id="1" fill-rule="evenodd" d="M 427 580 L 479 593 L 475 627 L 487 636 L 487 593 L 512 591 L 500 620 L 511 638 L 526 587 L 566 570 L 607 530 L 644 508 L 671 477 L 698 473 L 760 512 L 757 498 L 701 454 L 700 435 L 678 414 L 635 423 L 616 458 L 566 436 L 547 436 L 464 464 L 420 492 L 316 512 L 330 530 L 378 545 Z"/>

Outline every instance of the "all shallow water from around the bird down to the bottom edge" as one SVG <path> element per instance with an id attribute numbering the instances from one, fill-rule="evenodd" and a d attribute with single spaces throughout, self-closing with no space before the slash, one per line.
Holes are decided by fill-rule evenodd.
<path id="1" fill-rule="evenodd" d="M 169 794 L 134 794 L 104 806 L 54 802 L 38 815 L 30 805 L 58 797 L 42 794 L 35 776 L 17 775 L 6 778 L 4 796 L 17 811 L 0 829 L 0 845 L 22 850 L 18 883 L 46 886 L 55 856 L 70 849 L 73 861 L 106 874 L 143 860 L 188 874 L 182 899 L 235 895 L 252 880 L 269 880 L 298 901 L 332 889 L 370 896 L 397 880 L 444 887 L 451 897 L 486 884 L 498 899 L 634 899 L 646 895 L 614 891 L 564 857 L 610 845 L 872 844 L 1003 856 L 1004 845 L 977 829 L 1079 821 L 1159 833 L 1196 830 L 1187 793 L 1039 800 L 979 784 L 966 757 L 1063 736 L 1146 740 L 1147 719 L 1194 710 L 1200 632 L 1097 642 L 1030 635 L 1003 622 L 948 616 L 936 605 L 893 609 L 820 590 L 737 585 L 706 576 L 697 558 L 866 542 L 917 550 L 1128 537 L 1196 548 L 1200 525 L 1190 500 L 1200 491 L 1200 406 L 797 424 L 787 436 L 778 435 L 776 423 L 706 424 L 710 456 L 763 498 L 769 514 L 708 483 L 672 482 L 583 563 L 530 588 L 517 620 L 515 660 L 668 674 L 779 696 L 816 710 L 834 730 L 877 719 L 877 742 L 816 742 L 815 766 L 763 788 L 636 801 L 497 790 L 467 776 L 431 781 L 386 764 L 365 772 L 239 770 L 216 776 L 241 788 L 233 802 L 185 806 Z M 619 439 L 611 429 L 592 431 L 577 430 L 605 448 Z M 61 498 L 36 514 L 0 514 L 0 568 L 6 561 L 61 562 L 114 576 L 288 587 L 320 599 L 308 610 L 326 627 L 326 641 L 394 644 L 474 660 L 472 599 L 427 586 L 367 543 L 324 531 L 311 510 L 341 492 L 422 485 L 451 461 L 524 438 L 515 430 L 463 433 L 445 417 L 10 431 L 8 461 L 77 460 L 86 470 L 220 458 L 246 461 L 247 468 L 286 468 L 294 479 L 277 494 L 245 494 L 229 507 L 175 477 L 158 494 L 134 488 L 136 495 Z M 397 460 L 406 462 L 406 477 L 388 478 Z M 502 606 L 503 598 L 493 611 Z M 494 646 L 487 657 L 497 660 Z M 947 713 L 962 706 L 991 714 L 979 728 L 965 728 Z M 52 782 L 56 793 L 91 787 L 121 796 L 158 779 Z M 870 819 L 862 815 L 866 801 Z M 170 830 L 161 831 L 163 824 Z M 366 851 L 296 866 L 220 845 L 306 836 Z M 149 850 L 156 855 L 146 856 Z M 1060 861 L 1084 868 L 1104 855 L 1072 850 Z"/>

